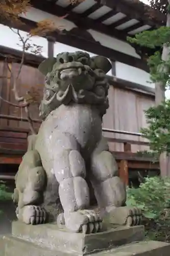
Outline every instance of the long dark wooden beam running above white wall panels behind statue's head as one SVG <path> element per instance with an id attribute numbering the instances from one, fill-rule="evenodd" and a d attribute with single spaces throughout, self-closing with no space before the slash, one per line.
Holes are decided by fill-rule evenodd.
<path id="1" fill-rule="evenodd" d="M 23 22 L 23 24 L 17 23 L 17 24 L 12 24 L 13 28 L 16 29 L 20 29 L 22 31 L 26 31 L 29 32 L 31 29 L 36 28 L 37 23 L 33 22 L 29 19 L 26 18 L 20 18 L 21 21 Z M 4 20 L 0 20 L 0 23 L 6 25 L 6 26 L 11 26 L 10 23 L 8 23 L 8 21 L 6 20 L 6 22 Z M 139 68 L 141 70 L 145 70 L 145 71 L 149 71 L 147 62 L 130 56 L 128 54 L 122 53 L 122 52 L 118 52 L 116 50 L 113 50 L 111 48 L 107 48 L 103 45 L 101 45 L 99 42 L 94 41 L 94 39 L 90 39 L 85 37 L 83 32 L 80 30 L 79 35 L 75 35 L 73 33 L 71 33 L 71 31 L 63 31 L 62 33 L 58 33 L 58 32 L 53 32 L 51 34 L 51 36 L 53 36 L 53 38 L 57 41 L 57 42 L 61 42 L 62 44 L 68 45 L 68 46 L 72 46 L 78 49 L 82 49 L 84 51 L 87 52 L 92 52 L 94 54 L 97 55 L 103 55 L 107 58 L 109 58 L 112 61 L 119 61 L 122 63 L 125 63 L 127 65 L 130 65 L 132 67 L 136 67 Z"/>

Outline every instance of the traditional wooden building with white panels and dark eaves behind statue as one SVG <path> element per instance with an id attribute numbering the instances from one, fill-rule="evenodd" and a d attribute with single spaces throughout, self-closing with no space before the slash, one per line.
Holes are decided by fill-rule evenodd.
<path id="1" fill-rule="evenodd" d="M 152 54 L 152 51 L 130 45 L 127 36 L 161 26 L 165 22 L 164 16 L 156 11 L 153 11 L 151 17 L 144 15 L 151 8 L 140 1 L 85 0 L 70 4 L 69 0 L 44 0 L 42 5 L 40 1 L 32 0 L 31 4 L 28 12 L 20 17 L 24 25 L 12 26 L 29 32 L 36 27 L 37 22 L 52 19 L 61 31 L 47 37 L 48 54 L 52 56 L 62 51 L 80 49 L 91 55 L 103 55 L 112 62 L 112 71 L 107 74 L 110 82 L 110 108 L 104 116 L 103 128 L 125 183 L 129 182 L 129 168 L 158 169 L 158 164 L 153 164 L 152 159 L 144 159 L 135 154 L 148 145 L 140 137 L 139 130 L 145 126 L 143 110 L 153 105 L 155 98 L 154 85 L 147 82 L 149 70 L 145 55 Z M 9 25 L 7 21 L 0 19 L 0 22 Z M 10 54 L 10 68 L 15 74 L 21 52 L 1 46 L 0 53 Z M 0 75 L 7 77 L 0 80 L 1 97 L 15 103 L 11 91 L 12 77 L 3 56 L 0 58 Z M 43 59 L 26 54 L 19 78 L 20 94 L 35 85 L 42 93 L 44 77 L 37 67 Z M 0 104 L 0 163 L 4 166 L 9 163 L 19 164 L 27 149 L 28 122 L 24 111 L 16 111 L 15 106 L 3 100 Z M 37 105 L 32 108 L 32 118 L 38 129 L 40 120 Z M 6 173 L 2 173 L 1 177 L 6 177 Z"/>

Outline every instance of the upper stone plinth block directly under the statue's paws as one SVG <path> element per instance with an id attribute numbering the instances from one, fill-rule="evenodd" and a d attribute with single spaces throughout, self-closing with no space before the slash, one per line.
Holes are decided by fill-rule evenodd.
<path id="1" fill-rule="evenodd" d="M 85 254 L 104 250 L 144 238 L 144 227 L 118 227 L 94 234 L 72 233 L 58 229 L 57 224 L 42 224 L 38 226 L 13 222 L 14 237 L 34 244 L 65 253 Z"/>

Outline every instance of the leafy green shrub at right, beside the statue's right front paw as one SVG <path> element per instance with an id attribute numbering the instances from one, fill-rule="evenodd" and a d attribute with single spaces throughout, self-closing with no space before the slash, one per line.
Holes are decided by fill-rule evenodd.
<path id="1" fill-rule="evenodd" d="M 142 210 L 147 239 L 170 242 L 170 178 L 147 177 L 127 188 L 127 205 Z"/>

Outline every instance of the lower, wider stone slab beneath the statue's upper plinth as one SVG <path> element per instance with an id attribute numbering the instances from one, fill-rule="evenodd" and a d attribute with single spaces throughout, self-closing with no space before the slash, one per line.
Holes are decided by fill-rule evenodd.
<path id="1" fill-rule="evenodd" d="M 24 241 L 19 238 L 14 237 L 4 237 L 4 248 L 5 253 L 1 256 L 69 256 L 70 254 L 54 251 L 53 247 L 44 248 L 40 245 L 35 245 L 32 242 Z M 2 249 L 2 248 L 1 248 Z M 91 256 L 169 256 L 170 244 L 162 242 L 136 242 L 116 248 L 112 248 L 105 251 L 100 251 L 96 253 L 90 253 Z M 82 255 L 77 254 L 72 251 L 72 256 Z"/>

